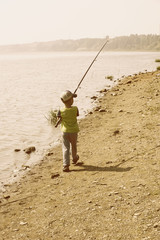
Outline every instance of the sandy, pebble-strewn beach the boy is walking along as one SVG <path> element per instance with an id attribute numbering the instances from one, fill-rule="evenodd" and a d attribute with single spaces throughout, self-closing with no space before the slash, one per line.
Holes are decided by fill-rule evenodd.
<path id="1" fill-rule="evenodd" d="M 102 90 L 81 120 L 80 161 L 61 146 L 0 198 L 2 240 L 160 239 L 160 71 Z"/>

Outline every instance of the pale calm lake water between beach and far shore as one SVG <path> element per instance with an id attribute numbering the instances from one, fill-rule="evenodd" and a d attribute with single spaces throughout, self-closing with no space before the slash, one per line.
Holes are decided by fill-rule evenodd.
<path id="1" fill-rule="evenodd" d="M 0 55 L 0 183 L 18 174 L 23 165 L 43 158 L 56 143 L 59 129 L 44 115 L 62 106 L 59 95 L 74 91 L 95 52 Z M 160 53 L 102 52 L 78 90 L 81 115 L 92 107 L 90 97 L 109 84 L 105 79 L 153 71 Z M 23 149 L 35 146 L 26 156 Z M 14 149 L 21 149 L 16 153 Z"/>

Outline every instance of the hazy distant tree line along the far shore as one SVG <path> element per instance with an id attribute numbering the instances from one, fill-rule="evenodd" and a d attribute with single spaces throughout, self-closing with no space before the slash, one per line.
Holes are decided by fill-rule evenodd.
<path id="1" fill-rule="evenodd" d="M 83 38 L 77 40 L 56 40 L 0 46 L 0 52 L 55 52 L 55 51 L 98 51 L 104 38 Z M 121 36 L 110 39 L 104 51 L 160 51 L 160 35 Z"/>

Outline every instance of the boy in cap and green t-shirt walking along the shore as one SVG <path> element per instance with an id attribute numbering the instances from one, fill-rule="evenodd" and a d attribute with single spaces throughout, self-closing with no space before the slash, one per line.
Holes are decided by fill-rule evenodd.
<path id="1" fill-rule="evenodd" d="M 61 94 L 61 100 L 65 107 L 58 112 L 58 121 L 55 125 L 57 127 L 61 122 L 64 172 L 69 172 L 70 145 L 72 146 L 72 163 L 76 164 L 79 160 L 79 156 L 77 155 L 77 137 L 79 132 L 77 116 L 79 116 L 79 111 L 76 106 L 72 106 L 73 98 L 75 97 L 77 95 L 68 90 Z"/>

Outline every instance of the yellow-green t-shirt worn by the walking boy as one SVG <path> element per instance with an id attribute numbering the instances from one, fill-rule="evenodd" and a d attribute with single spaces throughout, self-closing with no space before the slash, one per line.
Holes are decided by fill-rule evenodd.
<path id="1" fill-rule="evenodd" d="M 77 123 L 78 108 L 72 106 L 71 108 L 63 108 L 60 110 L 61 114 L 61 131 L 68 133 L 79 132 L 79 127 Z"/>

